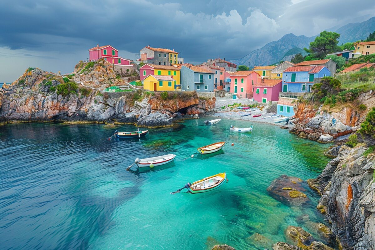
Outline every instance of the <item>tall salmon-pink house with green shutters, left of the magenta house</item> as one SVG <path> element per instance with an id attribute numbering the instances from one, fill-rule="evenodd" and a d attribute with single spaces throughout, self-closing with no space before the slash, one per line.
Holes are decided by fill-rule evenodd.
<path id="1" fill-rule="evenodd" d="M 236 71 L 229 75 L 231 79 L 230 92 L 237 95 L 237 98 L 253 97 L 252 87 L 261 82 L 261 76 L 253 71 Z"/>

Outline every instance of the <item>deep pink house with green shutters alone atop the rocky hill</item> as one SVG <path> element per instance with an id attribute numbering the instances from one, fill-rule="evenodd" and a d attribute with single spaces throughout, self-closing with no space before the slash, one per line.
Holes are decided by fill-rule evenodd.
<path id="1" fill-rule="evenodd" d="M 105 60 L 113 63 L 114 65 L 130 65 L 130 60 L 118 56 L 118 50 L 113 48 L 111 45 L 96 46 L 89 49 L 90 61 L 96 61 L 99 58 L 104 58 Z"/>

